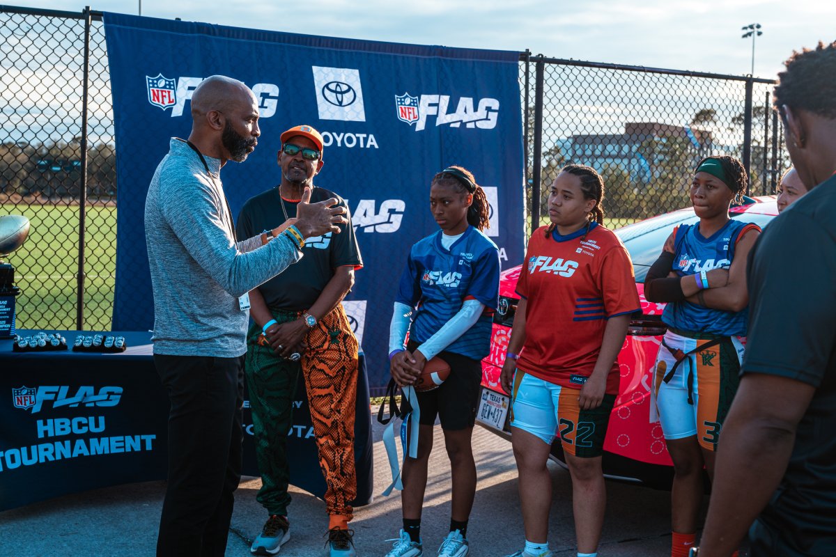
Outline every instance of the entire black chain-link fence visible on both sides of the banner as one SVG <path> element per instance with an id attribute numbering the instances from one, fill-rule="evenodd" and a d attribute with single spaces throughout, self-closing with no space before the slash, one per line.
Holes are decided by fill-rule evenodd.
<path id="1" fill-rule="evenodd" d="M 0 215 L 32 222 L 19 328 L 110 330 L 116 258 L 113 101 L 101 14 L 0 8 Z M 696 162 L 731 154 L 750 195 L 788 166 L 766 79 L 520 57 L 527 221 L 563 165 L 604 175 L 609 227 L 689 205 Z"/>

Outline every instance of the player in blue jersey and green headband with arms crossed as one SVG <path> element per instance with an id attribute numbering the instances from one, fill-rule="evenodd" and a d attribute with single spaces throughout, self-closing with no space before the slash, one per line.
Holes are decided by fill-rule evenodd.
<path id="1" fill-rule="evenodd" d="M 717 440 L 737 391 L 747 332 L 747 256 L 761 229 L 729 218 L 747 186 L 746 170 L 728 156 L 696 168 L 691 203 L 696 225 L 680 225 L 645 279 L 648 301 L 668 302 L 668 331 L 655 363 L 655 399 L 670 458 L 672 557 L 694 544 L 702 468 L 714 473 Z"/>

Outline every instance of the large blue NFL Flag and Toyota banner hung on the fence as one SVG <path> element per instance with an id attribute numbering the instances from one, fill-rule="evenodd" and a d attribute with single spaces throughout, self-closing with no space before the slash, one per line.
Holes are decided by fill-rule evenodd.
<path id="1" fill-rule="evenodd" d="M 390 377 L 389 322 L 409 248 L 438 230 L 429 191 L 439 170 L 472 170 L 491 205 L 486 233 L 499 246 L 502 265 L 522 261 L 518 53 L 116 13 L 104 14 L 104 26 L 119 145 L 115 330 L 154 325 L 145 195 L 169 139 L 190 133 L 191 94 L 217 73 L 240 79 L 259 101 L 257 149 L 244 164 L 222 170 L 234 217 L 244 201 L 281 181 L 276 155 L 285 129 L 307 124 L 323 136 L 326 164 L 314 184 L 349 205 L 364 268 L 344 306 L 362 343 L 370 387 L 384 387 Z"/>

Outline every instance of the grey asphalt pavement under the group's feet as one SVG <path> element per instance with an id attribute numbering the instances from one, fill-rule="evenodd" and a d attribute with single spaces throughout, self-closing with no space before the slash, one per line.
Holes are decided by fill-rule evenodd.
<path id="1" fill-rule="evenodd" d="M 400 496 L 382 497 L 391 481 L 382 426 L 376 423 L 375 499 L 355 509 L 351 522 L 359 557 L 382 557 L 401 526 Z M 421 537 L 425 554 L 436 552 L 450 521 L 450 466 L 441 428 L 436 427 L 426 489 Z M 468 526 L 471 554 L 512 554 L 523 547 L 523 519 L 517 497 L 517 468 L 511 443 L 479 426 L 474 429 L 476 501 Z M 549 464 L 553 504 L 549 542 L 555 556 L 574 557 L 572 490 L 568 472 Z M 236 492 L 227 555 L 249 555 L 252 539 L 267 514 L 255 496 L 261 480 L 245 477 Z M 328 519 L 320 499 L 291 488 L 291 539 L 285 557 L 325 557 Z M 165 482 L 125 484 L 73 494 L 0 513 L 0 557 L 18 555 L 154 555 Z M 608 508 L 600 557 L 670 555 L 670 494 L 637 485 L 607 483 Z"/>

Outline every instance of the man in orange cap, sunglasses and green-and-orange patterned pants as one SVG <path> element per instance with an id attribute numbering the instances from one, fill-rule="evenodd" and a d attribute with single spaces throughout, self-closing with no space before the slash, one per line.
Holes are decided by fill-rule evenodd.
<path id="1" fill-rule="evenodd" d="M 305 188 L 311 202 L 334 197 L 314 186 L 322 170 L 322 135 L 308 126 L 281 136 L 278 166 L 282 181 L 244 204 L 237 220 L 242 237 L 288 221 L 293 223 Z M 258 502 L 270 515 L 253 554 L 278 554 L 289 539 L 288 458 L 286 443 L 299 372 L 303 372 L 314 423 L 319 463 L 325 475 L 331 557 L 354 557 L 348 522 L 349 501 L 357 494 L 354 470 L 354 404 L 357 392 L 358 343 L 339 303 L 354 284 L 354 270 L 363 266 L 346 208 L 340 234 L 308 238 L 303 258 L 293 269 L 250 291 L 252 327 L 247 334 L 244 365 L 249 388 L 262 489 Z M 247 236 L 243 236 L 247 234 Z M 265 236 L 265 241 L 268 238 Z"/>

